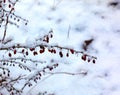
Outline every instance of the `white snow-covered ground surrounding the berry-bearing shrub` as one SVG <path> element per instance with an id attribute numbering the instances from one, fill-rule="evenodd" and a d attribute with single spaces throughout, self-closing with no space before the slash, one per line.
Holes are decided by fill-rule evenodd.
<path id="1" fill-rule="evenodd" d="M 120 94 L 120 3 L 109 6 L 111 1 L 115 0 L 20 0 L 17 3 L 15 13 L 29 23 L 25 26 L 21 22 L 20 28 L 8 27 L 7 37 L 13 37 L 15 43 L 29 44 L 52 29 L 51 44 L 80 51 L 84 41 L 93 38 L 87 53 L 97 57 L 96 64 L 92 64 L 76 56 L 62 59 L 53 56 L 61 61 L 57 71 L 86 70 L 88 74 L 56 74 L 25 89 L 24 95 L 44 91 L 55 95 Z M 45 56 L 51 58 L 50 54 Z"/>

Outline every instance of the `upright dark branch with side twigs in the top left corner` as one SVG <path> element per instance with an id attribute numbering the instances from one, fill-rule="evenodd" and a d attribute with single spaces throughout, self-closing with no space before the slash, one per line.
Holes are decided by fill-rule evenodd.
<path id="1" fill-rule="evenodd" d="M 19 27 L 16 23 L 14 23 L 14 22 L 11 22 L 10 21 L 10 18 L 12 18 L 12 16 L 14 16 L 14 20 L 16 20 L 16 18 L 17 18 L 17 21 L 19 22 L 20 21 L 20 19 L 21 20 L 23 20 L 23 21 L 26 21 L 26 23 L 25 23 L 25 25 L 27 25 L 27 23 L 28 23 L 28 20 L 26 20 L 26 19 L 23 19 L 22 17 L 20 17 L 20 16 L 17 16 L 17 15 L 15 15 L 14 14 L 14 7 L 15 7 L 15 5 L 16 5 L 16 3 L 18 2 L 18 0 L 15 0 L 14 2 L 12 2 L 11 0 L 4 0 L 4 1 L 1 1 L 1 10 L 2 10 L 2 22 L 4 21 L 5 22 L 5 28 L 4 28 L 4 34 L 3 34 L 3 37 L 2 37 L 2 40 L 1 40 L 1 42 L 3 42 L 4 40 L 5 40 L 5 37 L 6 37 L 6 32 L 7 32 L 7 27 L 8 27 L 8 23 L 10 23 L 10 24 L 14 24 L 15 26 L 17 26 L 17 27 Z M 3 8 L 3 4 L 4 3 L 8 3 L 9 5 L 8 6 L 4 6 L 4 8 Z M 10 10 L 6 10 L 6 7 L 8 7 Z"/>

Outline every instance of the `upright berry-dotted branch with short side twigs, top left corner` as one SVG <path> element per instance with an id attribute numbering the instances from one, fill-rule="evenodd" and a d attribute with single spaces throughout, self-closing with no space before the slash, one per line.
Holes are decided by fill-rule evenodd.
<path id="1" fill-rule="evenodd" d="M 27 25 L 28 20 L 17 16 L 15 14 L 15 5 L 18 2 L 18 0 L 11 1 L 11 0 L 0 0 L 0 29 L 3 29 L 3 37 L 1 39 L 1 42 L 4 42 L 6 33 L 7 33 L 7 27 L 8 24 L 13 24 L 17 27 L 19 27 L 18 23 L 22 20 L 25 22 L 25 25 Z M 13 21 L 11 21 L 13 20 Z"/>

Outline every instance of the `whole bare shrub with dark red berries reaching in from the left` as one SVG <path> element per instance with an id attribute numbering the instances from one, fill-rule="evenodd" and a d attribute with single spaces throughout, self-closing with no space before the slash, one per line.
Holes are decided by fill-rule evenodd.
<path id="1" fill-rule="evenodd" d="M 25 88 L 33 86 L 46 75 L 54 74 L 52 71 L 59 67 L 59 62 L 52 56 L 50 61 L 47 57 L 42 60 L 42 55 L 44 56 L 45 53 L 59 55 L 60 58 L 80 54 L 81 60 L 95 64 L 94 56 L 69 47 L 50 44 L 50 39 L 54 36 L 52 30 L 29 44 L 13 43 L 12 38 L 6 38 L 9 24 L 19 28 L 21 20 L 25 25 L 28 23 L 26 19 L 14 14 L 16 3 L 18 0 L 0 0 L 0 32 L 3 32 L 0 40 L 1 95 L 21 95 Z M 66 74 L 71 73 L 66 72 Z M 86 72 L 81 74 L 85 75 Z"/>

